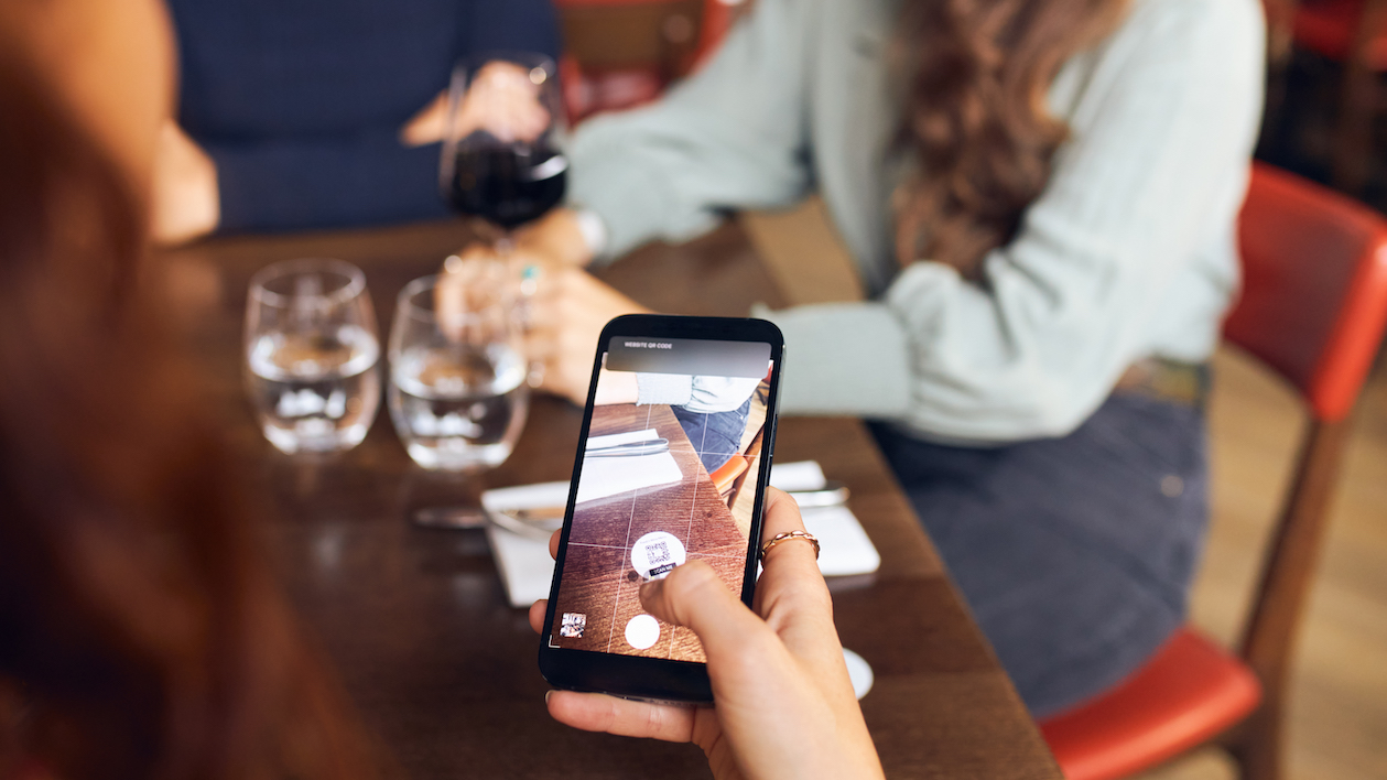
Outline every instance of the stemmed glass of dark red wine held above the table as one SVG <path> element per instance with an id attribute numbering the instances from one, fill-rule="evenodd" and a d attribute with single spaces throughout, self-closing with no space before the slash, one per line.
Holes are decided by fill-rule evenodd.
<path id="1" fill-rule="evenodd" d="M 562 108 L 558 68 L 542 54 L 491 53 L 454 68 L 440 187 L 455 211 L 499 229 L 501 254 L 512 230 L 563 198 Z"/>

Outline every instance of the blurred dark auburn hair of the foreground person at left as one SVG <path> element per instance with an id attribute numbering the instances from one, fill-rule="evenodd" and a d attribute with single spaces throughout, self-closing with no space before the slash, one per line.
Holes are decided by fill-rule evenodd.
<path id="1" fill-rule="evenodd" d="M 0 777 L 365 777 L 141 279 L 144 207 L 0 47 Z"/>

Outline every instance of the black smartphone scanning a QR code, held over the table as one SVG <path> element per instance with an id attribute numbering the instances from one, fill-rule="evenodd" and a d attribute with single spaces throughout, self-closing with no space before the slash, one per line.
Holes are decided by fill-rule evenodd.
<path id="1" fill-rule="evenodd" d="M 560 688 L 712 701 L 694 631 L 644 583 L 703 559 L 748 605 L 785 343 L 763 319 L 619 316 L 602 330 L 540 670 Z"/>

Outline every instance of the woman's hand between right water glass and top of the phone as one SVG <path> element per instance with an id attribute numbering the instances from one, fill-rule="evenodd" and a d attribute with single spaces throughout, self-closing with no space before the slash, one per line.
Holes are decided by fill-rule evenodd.
<path id="1" fill-rule="evenodd" d="M 623 314 L 651 310 L 577 268 L 551 266 L 535 279 L 526 354 L 544 365 L 541 390 L 583 405 L 602 328 Z"/>

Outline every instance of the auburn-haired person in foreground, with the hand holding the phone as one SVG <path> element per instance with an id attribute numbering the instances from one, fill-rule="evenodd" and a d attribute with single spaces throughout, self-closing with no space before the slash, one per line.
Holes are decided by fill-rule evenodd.
<path id="1" fill-rule="evenodd" d="M 0 6 L 0 779 L 390 774 L 272 575 L 141 265 L 166 25 L 154 0 Z M 798 527 L 774 495 L 767 533 Z M 644 594 L 703 637 L 713 709 L 558 693 L 553 715 L 696 741 L 718 777 L 879 777 L 793 547 L 767 555 L 764 619 L 698 566 Z"/>

